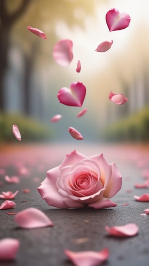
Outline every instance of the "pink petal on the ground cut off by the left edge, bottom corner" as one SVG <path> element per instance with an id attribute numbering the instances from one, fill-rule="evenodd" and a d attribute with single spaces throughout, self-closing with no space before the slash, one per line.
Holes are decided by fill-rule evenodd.
<path id="1" fill-rule="evenodd" d="M 19 249 L 20 242 L 15 238 L 2 238 L 0 240 L 0 261 L 14 260 Z"/>

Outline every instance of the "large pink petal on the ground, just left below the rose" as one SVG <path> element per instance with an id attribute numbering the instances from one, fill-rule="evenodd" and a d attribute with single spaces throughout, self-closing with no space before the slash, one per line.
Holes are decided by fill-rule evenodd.
<path id="1" fill-rule="evenodd" d="M 15 215 L 14 220 L 21 228 L 29 229 L 53 226 L 53 223 L 48 216 L 36 208 L 28 208 L 18 212 Z"/>

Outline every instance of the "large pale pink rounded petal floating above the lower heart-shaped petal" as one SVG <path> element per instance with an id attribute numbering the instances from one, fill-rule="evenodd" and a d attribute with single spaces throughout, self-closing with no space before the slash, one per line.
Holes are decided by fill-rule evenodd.
<path id="1" fill-rule="evenodd" d="M 69 66 L 74 58 L 73 42 L 68 39 L 57 42 L 53 49 L 53 57 L 62 67 Z"/>

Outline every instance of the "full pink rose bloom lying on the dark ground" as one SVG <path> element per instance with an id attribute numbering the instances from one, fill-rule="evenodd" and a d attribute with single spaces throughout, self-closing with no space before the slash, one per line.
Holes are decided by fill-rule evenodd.
<path id="1" fill-rule="evenodd" d="M 37 188 L 42 198 L 54 207 L 95 209 L 115 207 L 109 200 L 122 185 L 122 176 L 103 154 L 86 157 L 77 151 L 67 154 L 58 167 L 47 172 Z"/>

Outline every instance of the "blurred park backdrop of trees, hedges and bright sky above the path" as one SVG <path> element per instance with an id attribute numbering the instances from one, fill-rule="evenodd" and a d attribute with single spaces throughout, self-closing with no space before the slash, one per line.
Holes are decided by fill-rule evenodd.
<path id="1" fill-rule="evenodd" d="M 109 32 L 111 8 L 129 13 L 128 28 Z M 0 0 L 0 143 L 16 141 L 12 124 L 23 141 L 72 141 L 70 126 L 86 141 L 149 141 L 148 10 L 149 0 Z M 27 26 L 44 31 L 47 40 Z M 74 44 L 66 68 L 52 56 L 61 39 Z M 113 40 L 111 49 L 95 52 L 105 40 Z M 82 108 L 60 104 L 59 89 L 77 81 L 86 87 Z M 111 90 L 128 102 L 111 102 Z M 76 118 L 83 108 L 87 113 Z M 63 118 L 51 123 L 55 114 Z"/>

